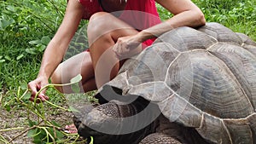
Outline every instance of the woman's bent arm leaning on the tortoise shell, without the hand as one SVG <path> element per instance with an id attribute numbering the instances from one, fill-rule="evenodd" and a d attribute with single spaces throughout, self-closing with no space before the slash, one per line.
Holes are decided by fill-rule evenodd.
<path id="1" fill-rule="evenodd" d="M 158 37 L 164 32 L 180 26 L 197 27 L 206 24 L 204 14 L 190 0 L 155 0 L 174 16 L 159 25 L 149 27 L 137 34 L 137 39 L 143 42 L 152 37 Z"/>

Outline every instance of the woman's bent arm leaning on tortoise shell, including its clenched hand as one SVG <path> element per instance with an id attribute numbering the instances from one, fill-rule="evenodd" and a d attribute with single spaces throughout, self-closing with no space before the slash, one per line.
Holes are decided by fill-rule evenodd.
<path id="1" fill-rule="evenodd" d="M 159 37 L 161 34 L 168 32 L 180 26 L 197 27 L 206 24 L 204 14 L 190 0 L 155 0 L 163 7 L 169 10 L 174 16 L 162 23 L 149 27 L 136 35 L 128 37 L 119 37 L 117 43 L 113 46 L 113 52 L 119 57 L 127 55 L 131 49 L 137 48 L 139 43 L 147 39 Z"/>

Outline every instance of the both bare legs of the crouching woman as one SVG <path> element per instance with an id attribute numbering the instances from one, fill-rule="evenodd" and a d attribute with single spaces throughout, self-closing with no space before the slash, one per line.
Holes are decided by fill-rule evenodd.
<path id="1" fill-rule="evenodd" d="M 51 77 L 53 84 L 70 83 L 70 79 L 80 73 L 83 77 L 81 83 L 83 92 L 101 87 L 119 72 L 119 60 L 109 48 L 113 47 L 119 37 L 135 35 L 137 30 L 112 14 L 100 12 L 91 16 L 87 33 L 90 53 L 85 51 L 62 62 Z M 70 87 L 57 89 L 62 93 L 72 92 Z"/>

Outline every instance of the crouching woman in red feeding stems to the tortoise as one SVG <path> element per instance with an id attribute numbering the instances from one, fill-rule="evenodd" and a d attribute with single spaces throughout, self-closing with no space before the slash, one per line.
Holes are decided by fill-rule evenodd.
<path id="1" fill-rule="evenodd" d="M 160 22 L 154 1 L 174 16 Z M 125 11 L 111 13 L 120 10 Z M 82 19 L 90 19 L 87 29 L 90 51 L 61 63 Z M 44 51 L 38 78 L 28 84 L 31 101 L 49 78 L 54 84 L 65 84 L 80 73 L 84 92 L 97 89 L 117 75 L 123 61 L 129 58 L 127 54 L 139 53 L 155 37 L 173 28 L 205 23 L 201 10 L 190 0 L 69 0 L 61 26 Z M 70 92 L 69 88 L 57 89 Z M 49 99 L 44 91 L 38 98 Z"/>

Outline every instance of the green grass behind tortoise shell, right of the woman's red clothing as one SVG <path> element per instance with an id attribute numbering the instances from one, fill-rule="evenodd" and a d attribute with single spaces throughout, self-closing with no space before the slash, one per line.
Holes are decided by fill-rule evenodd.
<path id="1" fill-rule="evenodd" d="M 205 14 L 207 22 L 218 22 L 234 32 L 247 34 L 256 40 L 256 0 L 192 0 Z M 159 7 L 160 17 L 166 20 L 172 16 Z"/>

